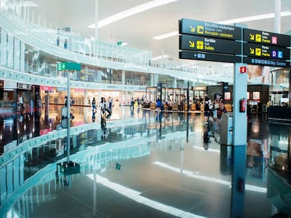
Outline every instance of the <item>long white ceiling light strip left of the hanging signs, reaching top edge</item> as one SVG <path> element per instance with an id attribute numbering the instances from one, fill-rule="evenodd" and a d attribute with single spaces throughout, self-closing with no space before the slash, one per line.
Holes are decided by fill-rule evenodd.
<path id="1" fill-rule="evenodd" d="M 98 22 L 98 28 L 104 27 L 106 25 L 109 25 L 112 22 L 116 22 L 117 20 L 122 20 L 123 18 L 127 18 L 131 15 L 135 15 L 136 13 L 141 13 L 143 11 L 147 11 L 151 8 L 156 8 L 158 6 L 162 6 L 165 4 L 169 4 L 172 3 L 174 1 L 178 1 L 178 0 L 154 0 L 154 1 L 149 1 L 145 4 L 141 4 L 139 6 L 136 6 L 134 8 L 129 8 L 126 11 L 122 11 L 120 13 L 117 13 L 115 15 L 112 15 L 108 18 L 105 18 L 103 20 L 100 20 Z M 95 28 L 95 24 L 89 25 L 89 28 Z"/>

